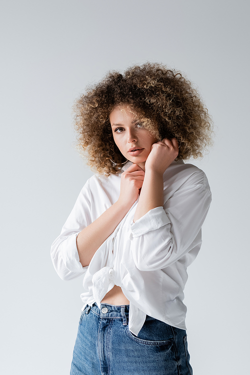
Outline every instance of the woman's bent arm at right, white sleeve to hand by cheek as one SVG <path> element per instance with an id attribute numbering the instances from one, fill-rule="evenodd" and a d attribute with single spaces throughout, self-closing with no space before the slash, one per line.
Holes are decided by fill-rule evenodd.
<path id="1" fill-rule="evenodd" d="M 145 163 L 145 176 L 131 225 L 131 250 L 141 271 L 163 269 L 196 245 L 211 195 L 196 171 L 163 207 L 163 173 L 178 154 L 175 139 L 157 142 Z"/>

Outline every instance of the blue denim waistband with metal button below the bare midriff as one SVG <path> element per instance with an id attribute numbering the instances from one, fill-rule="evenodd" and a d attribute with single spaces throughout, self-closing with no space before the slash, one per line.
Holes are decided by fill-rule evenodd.
<path id="1" fill-rule="evenodd" d="M 100 318 L 105 319 L 122 319 L 123 325 L 127 325 L 129 305 L 111 305 L 108 303 L 101 303 L 100 309 L 96 303 L 93 303 L 92 307 L 88 306 L 87 309 L 98 315 Z"/>

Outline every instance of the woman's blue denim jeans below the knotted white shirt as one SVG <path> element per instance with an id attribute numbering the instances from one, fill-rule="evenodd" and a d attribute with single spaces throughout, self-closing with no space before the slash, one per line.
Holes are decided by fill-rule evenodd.
<path id="1" fill-rule="evenodd" d="M 70 375 L 192 375 L 185 330 L 146 316 L 136 337 L 128 311 L 129 305 L 85 307 Z"/>

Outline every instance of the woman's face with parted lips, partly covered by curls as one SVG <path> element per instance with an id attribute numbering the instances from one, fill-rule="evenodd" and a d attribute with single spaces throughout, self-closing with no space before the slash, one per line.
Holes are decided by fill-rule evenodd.
<path id="1" fill-rule="evenodd" d="M 121 154 L 144 170 L 151 146 L 158 140 L 140 125 L 127 105 L 115 107 L 109 115 L 113 139 Z"/>

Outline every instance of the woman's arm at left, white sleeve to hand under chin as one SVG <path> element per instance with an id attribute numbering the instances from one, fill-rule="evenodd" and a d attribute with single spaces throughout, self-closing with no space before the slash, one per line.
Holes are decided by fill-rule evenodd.
<path id="1" fill-rule="evenodd" d="M 54 268 L 63 280 L 84 273 L 95 251 L 114 231 L 138 197 L 144 172 L 136 164 L 121 174 L 120 195 L 95 221 L 91 222 L 91 198 L 87 184 L 66 220 L 60 235 L 51 246 Z M 96 196 L 96 199 L 98 197 Z"/>

